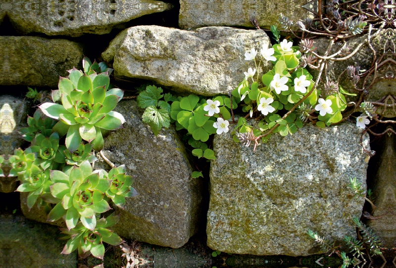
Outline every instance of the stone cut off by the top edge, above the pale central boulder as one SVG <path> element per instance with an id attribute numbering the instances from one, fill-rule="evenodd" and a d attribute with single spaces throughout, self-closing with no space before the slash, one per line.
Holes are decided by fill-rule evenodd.
<path id="1" fill-rule="evenodd" d="M 204 26 L 254 27 L 250 19 L 255 17 L 260 27 L 279 25 L 279 14 L 296 22 L 313 13 L 301 7 L 306 0 L 180 0 L 179 26 L 182 29 Z M 276 10 L 276 12 L 274 12 Z M 313 7 L 317 11 L 317 7 Z"/>

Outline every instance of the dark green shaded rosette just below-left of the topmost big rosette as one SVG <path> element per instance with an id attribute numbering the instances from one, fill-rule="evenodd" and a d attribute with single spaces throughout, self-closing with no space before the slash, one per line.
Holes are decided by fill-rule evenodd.
<path id="1" fill-rule="evenodd" d="M 41 133 L 45 137 L 49 137 L 52 134 L 52 127 L 55 123 L 56 122 L 49 117 L 43 120 L 40 112 L 37 110 L 33 117 L 28 116 L 29 127 L 21 128 L 19 130 L 19 134 L 21 134 L 22 138 L 27 141 L 32 141 L 37 133 Z"/>

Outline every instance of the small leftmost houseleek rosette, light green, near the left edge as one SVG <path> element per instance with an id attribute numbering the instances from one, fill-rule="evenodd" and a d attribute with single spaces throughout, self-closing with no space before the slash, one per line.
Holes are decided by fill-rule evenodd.
<path id="1" fill-rule="evenodd" d="M 35 157 L 34 153 L 27 153 L 19 148 L 14 150 L 14 154 L 8 159 L 11 170 L 8 174 L 10 177 L 23 175 L 24 178 L 32 177 L 34 174 L 41 172 L 41 161 Z"/>

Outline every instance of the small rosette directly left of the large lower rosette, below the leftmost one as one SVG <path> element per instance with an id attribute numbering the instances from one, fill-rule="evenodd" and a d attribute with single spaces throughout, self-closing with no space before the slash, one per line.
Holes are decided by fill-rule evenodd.
<path id="1" fill-rule="evenodd" d="M 27 197 L 27 206 L 29 210 L 34 206 L 37 199 L 43 194 L 49 193 L 52 181 L 49 179 L 49 169 L 33 174 L 31 177 L 24 178 L 22 184 L 18 186 L 16 191 L 18 192 L 29 192 Z M 40 199 L 39 207 L 43 201 Z"/>

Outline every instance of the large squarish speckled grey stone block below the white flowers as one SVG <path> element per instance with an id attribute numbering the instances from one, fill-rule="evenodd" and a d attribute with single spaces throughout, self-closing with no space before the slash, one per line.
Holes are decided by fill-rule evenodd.
<path id="1" fill-rule="evenodd" d="M 365 184 L 367 156 L 361 129 L 346 123 L 274 135 L 253 152 L 228 134 L 215 136 L 210 167 L 207 244 L 252 255 L 306 256 L 319 251 L 308 229 L 341 241 L 355 235 L 363 199 L 354 200 L 349 177 Z M 363 143 L 368 146 L 368 135 Z M 366 160 L 366 161 L 365 161 Z"/>

